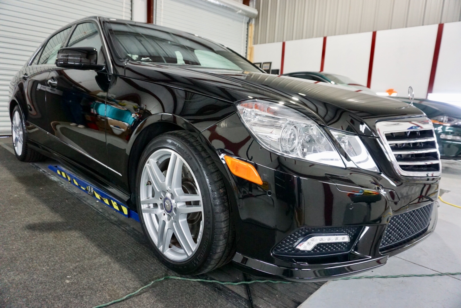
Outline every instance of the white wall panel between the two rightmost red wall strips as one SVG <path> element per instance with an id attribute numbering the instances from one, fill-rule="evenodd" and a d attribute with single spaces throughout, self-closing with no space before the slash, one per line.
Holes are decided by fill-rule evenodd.
<path id="1" fill-rule="evenodd" d="M 378 31 L 371 88 L 407 95 L 412 86 L 416 97 L 426 97 L 436 36 L 436 24 Z"/>

